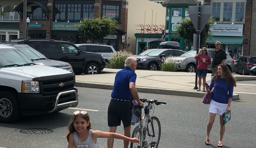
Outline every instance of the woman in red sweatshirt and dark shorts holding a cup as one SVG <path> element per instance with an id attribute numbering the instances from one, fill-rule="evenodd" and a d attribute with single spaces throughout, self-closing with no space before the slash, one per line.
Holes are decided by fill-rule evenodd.
<path id="1" fill-rule="evenodd" d="M 197 65 L 197 76 L 198 76 L 198 85 L 199 88 L 197 91 L 201 90 L 201 83 L 202 83 L 202 78 L 203 78 L 203 92 L 205 92 L 205 84 L 206 82 L 206 74 L 207 74 L 207 69 L 208 65 L 211 64 L 211 57 L 208 55 L 206 47 L 203 47 L 197 55 L 194 56 L 196 60 L 198 60 L 198 65 Z"/>

